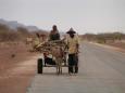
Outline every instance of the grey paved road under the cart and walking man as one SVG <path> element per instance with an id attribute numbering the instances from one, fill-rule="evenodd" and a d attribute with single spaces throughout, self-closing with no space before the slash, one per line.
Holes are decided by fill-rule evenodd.
<path id="1" fill-rule="evenodd" d="M 125 93 L 125 54 L 84 43 L 79 54 L 79 74 L 68 76 L 67 68 L 57 76 L 45 68 L 33 79 L 27 93 Z"/>

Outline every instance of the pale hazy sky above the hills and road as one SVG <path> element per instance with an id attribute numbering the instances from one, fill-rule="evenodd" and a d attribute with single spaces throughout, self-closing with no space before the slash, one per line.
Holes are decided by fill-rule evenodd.
<path id="1" fill-rule="evenodd" d="M 0 18 L 78 34 L 125 32 L 125 0 L 0 0 Z"/>

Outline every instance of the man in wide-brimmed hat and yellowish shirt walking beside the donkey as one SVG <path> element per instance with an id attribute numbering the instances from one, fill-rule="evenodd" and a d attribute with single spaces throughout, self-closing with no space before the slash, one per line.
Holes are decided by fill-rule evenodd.
<path id="1" fill-rule="evenodd" d="M 66 44 L 68 49 L 68 74 L 77 74 L 78 72 L 78 37 L 76 37 L 76 32 L 71 28 L 66 34 L 70 36 L 66 38 Z"/>

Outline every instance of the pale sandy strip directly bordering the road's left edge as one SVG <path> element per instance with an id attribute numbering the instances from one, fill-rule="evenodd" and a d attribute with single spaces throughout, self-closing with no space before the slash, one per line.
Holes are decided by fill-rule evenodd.
<path id="1" fill-rule="evenodd" d="M 26 93 L 26 88 L 35 76 L 38 55 L 17 63 L 0 75 L 0 93 Z"/>

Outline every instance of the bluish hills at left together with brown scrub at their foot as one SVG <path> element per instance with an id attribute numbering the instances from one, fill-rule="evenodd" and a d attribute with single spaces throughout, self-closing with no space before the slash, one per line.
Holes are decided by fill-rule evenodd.
<path id="1" fill-rule="evenodd" d="M 0 42 L 25 41 L 27 37 L 35 37 L 36 32 L 48 36 L 48 31 L 36 26 L 26 26 L 16 21 L 0 18 Z"/>

